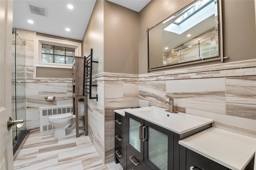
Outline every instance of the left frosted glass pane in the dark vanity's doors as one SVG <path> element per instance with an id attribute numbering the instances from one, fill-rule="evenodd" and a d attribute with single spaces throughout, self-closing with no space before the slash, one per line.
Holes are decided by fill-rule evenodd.
<path id="1" fill-rule="evenodd" d="M 138 152 L 140 152 L 139 127 L 140 122 L 129 117 L 129 144 Z"/>

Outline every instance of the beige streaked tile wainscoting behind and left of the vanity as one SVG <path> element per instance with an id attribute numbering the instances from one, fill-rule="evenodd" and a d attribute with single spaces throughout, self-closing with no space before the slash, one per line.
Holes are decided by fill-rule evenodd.
<path id="1" fill-rule="evenodd" d="M 99 98 L 88 100 L 89 135 L 105 163 L 114 160 L 114 110 L 168 109 L 165 95 L 174 98 L 177 111 L 256 137 L 256 59 L 144 75 L 102 73 L 94 81 Z"/>

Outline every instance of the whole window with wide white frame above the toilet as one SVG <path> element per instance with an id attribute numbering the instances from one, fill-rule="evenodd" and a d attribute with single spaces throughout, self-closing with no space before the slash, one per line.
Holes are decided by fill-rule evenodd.
<path id="1" fill-rule="evenodd" d="M 35 67 L 72 69 L 74 56 L 82 55 L 82 44 L 42 36 L 34 37 Z"/>

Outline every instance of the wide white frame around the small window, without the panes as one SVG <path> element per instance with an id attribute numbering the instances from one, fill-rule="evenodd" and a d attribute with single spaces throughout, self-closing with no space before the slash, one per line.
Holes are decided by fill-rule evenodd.
<path id="1" fill-rule="evenodd" d="M 82 55 L 82 43 L 59 40 L 42 36 L 34 36 L 34 66 L 72 69 L 72 64 L 43 63 L 42 62 L 42 44 L 58 45 L 75 49 L 75 56 Z"/>

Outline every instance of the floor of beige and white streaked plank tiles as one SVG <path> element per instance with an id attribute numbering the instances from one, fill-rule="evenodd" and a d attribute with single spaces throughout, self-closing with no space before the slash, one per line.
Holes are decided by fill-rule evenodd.
<path id="1" fill-rule="evenodd" d="M 54 132 L 30 131 L 14 160 L 15 170 L 122 170 L 120 164 L 103 164 L 90 138 L 81 135 L 54 139 Z"/>

